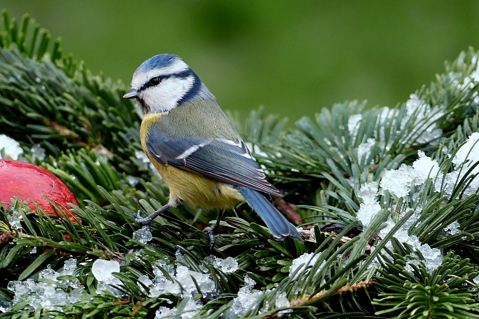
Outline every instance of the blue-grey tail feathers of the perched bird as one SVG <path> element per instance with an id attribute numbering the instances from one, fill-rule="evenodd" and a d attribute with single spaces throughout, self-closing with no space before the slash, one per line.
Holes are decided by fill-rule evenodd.
<path id="1" fill-rule="evenodd" d="M 244 197 L 246 203 L 261 217 L 274 237 L 284 239 L 289 236 L 302 241 L 296 227 L 291 225 L 261 193 L 241 186 L 235 186 L 235 188 Z"/>

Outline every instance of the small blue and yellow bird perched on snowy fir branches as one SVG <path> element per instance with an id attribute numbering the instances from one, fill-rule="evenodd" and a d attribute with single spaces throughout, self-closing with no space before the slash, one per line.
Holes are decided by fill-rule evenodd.
<path id="1" fill-rule="evenodd" d="M 136 69 L 131 87 L 123 97 L 136 99 L 143 112 L 141 145 L 170 188 L 169 203 L 137 221 L 148 225 L 180 200 L 220 212 L 245 201 L 275 238 L 301 241 L 263 195 L 282 193 L 266 181 L 215 96 L 179 56 L 149 58 Z"/>

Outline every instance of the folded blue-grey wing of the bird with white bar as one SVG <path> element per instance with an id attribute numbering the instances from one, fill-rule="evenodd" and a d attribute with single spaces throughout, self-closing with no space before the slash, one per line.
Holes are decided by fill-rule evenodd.
<path id="1" fill-rule="evenodd" d="M 266 181 L 263 170 L 240 139 L 173 137 L 154 125 L 146 144 L 153 158 L 163 165 L 266 194 L 283 195 Z"/>

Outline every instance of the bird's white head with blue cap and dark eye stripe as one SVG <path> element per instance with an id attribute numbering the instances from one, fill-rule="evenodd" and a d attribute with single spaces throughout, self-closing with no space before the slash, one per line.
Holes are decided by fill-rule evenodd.
<path id="1" fill-rule="evenodd" d="M 123 97 L 136 99 L 143 114 L 147 115 L 169 112 L 204 95 L 204 89 L 198 75 L 179 56 L 158 54 L 136 69 L 131 89 Z"/>

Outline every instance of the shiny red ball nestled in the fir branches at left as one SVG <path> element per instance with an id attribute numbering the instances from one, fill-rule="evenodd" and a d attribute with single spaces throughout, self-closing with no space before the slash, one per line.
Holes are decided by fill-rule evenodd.
<path id="1" fill-rule="evenodd" d="M 52 205 L 43 195 L 59 207 L 70 209 L 68 203 L 78 205 L 68 187 L 43 167 L 22 161 L 0 159 L 0 201 L 4 208 L 6 203 L 11 203 L 10 198 L 17 196 L 27 201 L 28 206 L 34 211 L 36 206 L 29 199 L 35 201 L 48 215 L 56 215 Z M 65 213 L 69 220 L 75 221 L 71 213 Z"/>

